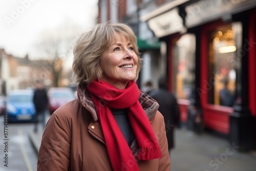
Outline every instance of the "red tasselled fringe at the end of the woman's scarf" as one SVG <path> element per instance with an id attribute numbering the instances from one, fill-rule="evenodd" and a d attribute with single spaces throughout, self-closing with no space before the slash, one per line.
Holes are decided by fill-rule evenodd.
<path id="1" fill-rule="evenodd" d="M 160 148 L 148 148 L 148 147 L 142 147 L 140 148 L 139 153 L 136 155 L 136 158 L 139 160 L 152 160 L 161 158 L 162 153 L 160 151 Z"/>

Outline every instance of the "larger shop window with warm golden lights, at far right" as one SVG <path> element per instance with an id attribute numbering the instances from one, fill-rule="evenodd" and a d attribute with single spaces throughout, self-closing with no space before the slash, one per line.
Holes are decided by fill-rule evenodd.
<path id="1" fill-rule="evenodd" d="M 209 32 L 208 103 L 232 106 L 236 97 L 236 29 L 225 25 Z"/>

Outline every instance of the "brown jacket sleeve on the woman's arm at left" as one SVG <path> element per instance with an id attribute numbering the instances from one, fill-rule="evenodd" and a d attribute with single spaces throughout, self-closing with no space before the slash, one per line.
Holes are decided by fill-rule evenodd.
<path id="1" fill-rule="evenodd" d="M 69 170 L 71 131 L 67 118 L 53 113 L 42 135 L 37 170 Z"/>

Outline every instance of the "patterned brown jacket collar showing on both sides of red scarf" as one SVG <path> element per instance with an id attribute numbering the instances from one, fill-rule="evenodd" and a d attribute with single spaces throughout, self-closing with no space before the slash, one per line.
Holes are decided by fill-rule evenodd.
<path id="1" fill-rule="evenodd" d="M 77 87 L 77 97 L 79 102 L 82 104 L 83 108 L 86 108 L 88 111 L 91 112 L 91 115 L 94 119 L 94 121 L 98 121 L 98 116 L 96 113 L 95 106 L 93 104 L 93 101 L 90 97 L 90 94 L 87 90 L 87 84 L 81 83 Z M 145 111 L 147 118 L 152 123 L 154 121 L 154 118 L 156 116 L 156 112 L 159 108 L 159 104 L 156 100 L 145 94 L 144 92 L 140 91 L 140 97 L 139 102 Z"/>

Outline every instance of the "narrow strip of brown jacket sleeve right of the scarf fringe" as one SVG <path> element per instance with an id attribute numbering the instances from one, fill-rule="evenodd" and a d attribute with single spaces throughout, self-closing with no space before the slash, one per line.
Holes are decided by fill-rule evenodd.
<path id="1" fill-rule="evenodd" d="M 159 159 L 158 171 L 169 171 L 170 170 L 170 156 L 169 156 L 168 143 L 167 143 L 167 137 L 166 137 L 166 132 L 165 132 L 164 118 L 160 114 L 160 112 L 157 112 L 156 117 L 159 119 L 158 121 L 159 121 L 159 125 L 160 125 L 160 130 L 156 134 L 156 136 L 159 137 L 159 145 L 160 145 L 161 153 L 162 153 L 162 157 Z"/>

